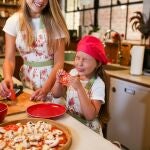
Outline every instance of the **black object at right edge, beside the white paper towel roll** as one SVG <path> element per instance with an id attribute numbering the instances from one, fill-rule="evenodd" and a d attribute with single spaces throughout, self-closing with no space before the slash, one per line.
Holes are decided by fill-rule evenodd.
<path id="1" fill-rule="evenodd" d="M 143 71 L 144 74 L 150 75 L 150 49 L 145 49 Z"/>

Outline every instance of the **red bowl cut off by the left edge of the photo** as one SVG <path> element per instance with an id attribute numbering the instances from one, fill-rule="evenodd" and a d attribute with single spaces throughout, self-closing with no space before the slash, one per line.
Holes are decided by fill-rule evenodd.
<path id="1" fill-rule="evenodd" d="M 8 111 L 7 104 L 0 103 L 0 122 L 2 122 L 5 119 L 7 111 Z"/>

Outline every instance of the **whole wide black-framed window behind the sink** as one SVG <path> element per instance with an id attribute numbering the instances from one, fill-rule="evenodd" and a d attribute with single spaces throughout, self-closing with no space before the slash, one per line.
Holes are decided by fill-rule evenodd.
<path id="1" fill-rule="evenodd" d="M 126 40 L 140 40 L 140 33 L 133 32 L 129 19 L 134 15 L 133 12 L 143 11 L 143 0 L 65 1 L 66 22 L 69 29 L 78 30 L 79 26 L 88 29 L 98 23 L 102 37 L 108 29 L 113 29 L 123 33 Z M 96 18 L 95 13 L 97 13 Z"/>

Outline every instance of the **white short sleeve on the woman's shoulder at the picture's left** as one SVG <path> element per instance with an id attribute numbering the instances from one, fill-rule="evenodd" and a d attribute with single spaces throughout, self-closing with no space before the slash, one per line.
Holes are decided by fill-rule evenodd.
<path id="1" fill-rule="evenodd" d="M 6 23 L 3 27 L 3 31 L 16 37 L 18 25 L 19 25 L 19 15 L 15 13 L 6 20 Z"/>

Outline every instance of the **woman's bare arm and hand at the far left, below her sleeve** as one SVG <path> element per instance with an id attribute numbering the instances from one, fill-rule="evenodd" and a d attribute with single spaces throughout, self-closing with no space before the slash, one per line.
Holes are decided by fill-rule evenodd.
<path id="1" fill-rule="evenodd" d="M 13 89 L 12 76 L 15 69 L 16 38 L 5 33 L 5 59 L 3 64 L 4 80 L 0 84 L 2 96 L 8 96 L 9 89 Z"/>

